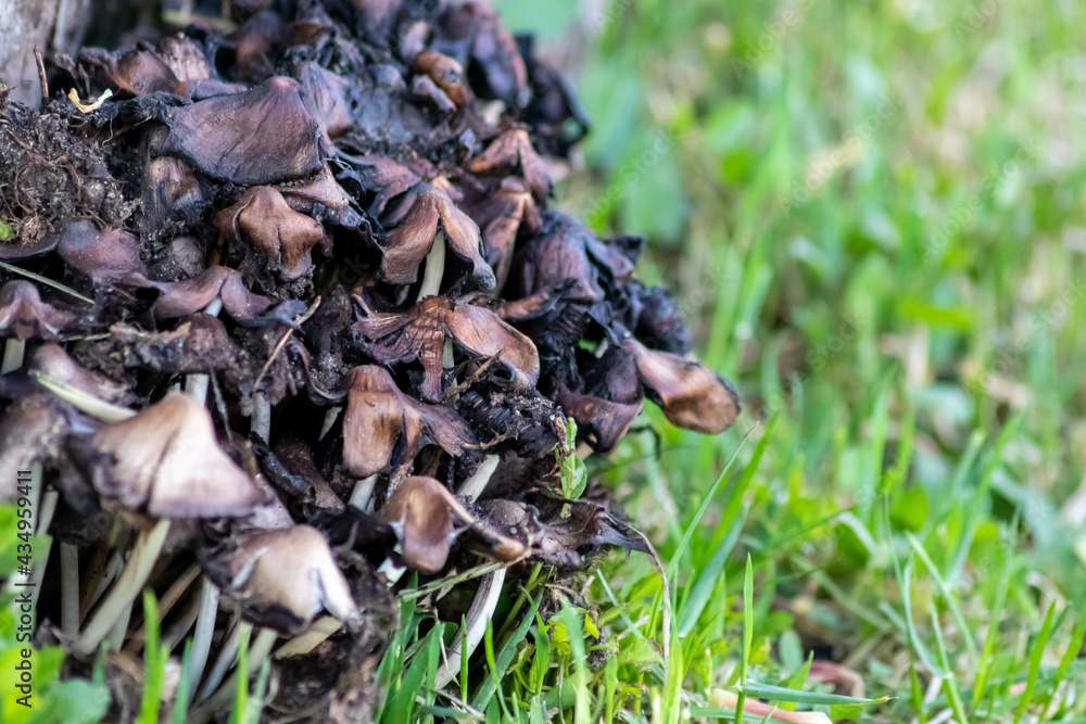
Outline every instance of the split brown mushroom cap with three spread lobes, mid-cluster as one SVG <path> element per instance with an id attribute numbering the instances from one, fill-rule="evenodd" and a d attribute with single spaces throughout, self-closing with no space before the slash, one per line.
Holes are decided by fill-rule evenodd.
<path id="1" fill-rule="evenodd" d="M 490 309 L 447 296 L 419 300 L 403 314 L 370 312 L 354 323 L 352 332 L 368 342 L 367 352 L 381 364 L 419 360 L 421 398 L 427 402 L 441 402 L 444 396 L 441 373 L 446 336 L 478 357 L 496 356 L 521 388 L 533 388 L 539 379 L 540 359 L 531 340 Z"/>

